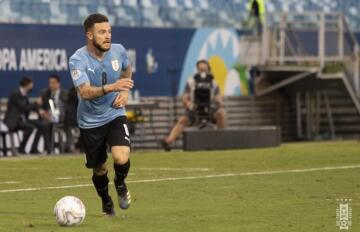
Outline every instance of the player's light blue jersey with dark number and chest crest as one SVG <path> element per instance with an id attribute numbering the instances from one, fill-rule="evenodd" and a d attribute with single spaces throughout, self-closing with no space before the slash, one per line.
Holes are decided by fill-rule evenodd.
<path id="1" fill-rule="evenodd" d="M 75 87 L 89 82 L 91 86 L 101 87 L 104 75 L 106 84 L 119 80 L 121 72 L 130 64 L 125 48 L 121 44 L 112 44 L 105 53 L 103 61 L 97 60 L 87 50 L 86 46 L 78 49 L 69 60 L 71 77 Z M 105 83 L 104 83 L 105 84 Z M 92 100 L 79 99 L 77 121 L 80 128 L 102 126 L 113 119 L 125 115 L 125 108 L 112 107 L 117 96 L 111 92 Z"/>

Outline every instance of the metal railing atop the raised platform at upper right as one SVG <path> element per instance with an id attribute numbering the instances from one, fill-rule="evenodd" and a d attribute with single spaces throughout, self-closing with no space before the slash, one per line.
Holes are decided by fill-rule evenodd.
<path id="1" fill-rule="evenodd" d="M 263 33 L 263 64 L 334 66 L 360 96 L 359 44 L 340 13 L 275 13 Z M 336 64 L 336 65 L 334 65 Z"/>

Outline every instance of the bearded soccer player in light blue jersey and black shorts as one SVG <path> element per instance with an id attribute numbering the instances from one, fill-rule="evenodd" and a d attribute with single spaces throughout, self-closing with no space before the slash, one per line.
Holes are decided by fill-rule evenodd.
<path id="1" fill-rule="evenodd" d="M 130 168 L 130 137 L 125 105 L 133 87 L 132 69 L 121 44 L 111 43 L 111 26 L 106 16 L 91 14 L 84 21 L 86 46 L 69 60 L 71 77 L 79 97 L 77 121 L 86 155 L 86 167 L 106 215 L 115 215 L 108 193 L 107 146 L 114 160 L 114 184 L 119 206 L 131 203 L 125 178 Z"/>

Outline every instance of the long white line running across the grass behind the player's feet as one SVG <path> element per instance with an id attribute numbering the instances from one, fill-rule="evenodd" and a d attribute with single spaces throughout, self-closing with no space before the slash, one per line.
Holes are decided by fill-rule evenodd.
<path id="1" fill-rule="evenodd" d="M 211 179 L 211 178 L 234 177 L 234 176 L 306 173 L 306 172 L 317 172 L 317 171 L 347 170 L 347 169 L 356 169 L 356 168 L 360 168 L 360 165 L 290 169 L 290 170 L 263 171 L 263 172 L 223 173 L 223 174 L 213 174 L 213 175 L 204 175 L 204 176 L 169 177 L 169 178 L 157 178 L 157 179 L 147 179 L 147 180 L 132 180 L 132 181 L 127 181 L 127 183 L 151 183 L 151 182 L 177 181 L 177 180 Z M 5 189 L 5 190 L 0 190 L 0 193 L 29 192 L 29 191 L 51 190 L 51 189 L 68 189 L 68 188 L 80 188 L 80 187 L 89 187 L 89 186 L 93 186 L 93 184 L 63 185 L 63 186 L 49 186 L 49 187 L 23 188 L 23 189 Z"/>

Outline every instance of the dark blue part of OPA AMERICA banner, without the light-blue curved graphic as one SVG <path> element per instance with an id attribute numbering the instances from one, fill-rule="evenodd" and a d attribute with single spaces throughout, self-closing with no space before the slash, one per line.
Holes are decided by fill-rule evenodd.
<path id="1" fill-rule="evenodd" d="M 169 96 L 177 91 L 180 70 L 193 29 L 112 28 L 113 43 L 128 49 L 136 89 L 142 96 Z M 0 97 L 18 87 L 23 75 L 33 78 L 37 96 L 52 73 L 62 86 L 72 81 L 68 58 L 85 45 L 81 26 L 0 24 Z"/>

